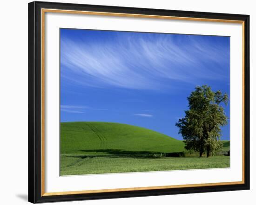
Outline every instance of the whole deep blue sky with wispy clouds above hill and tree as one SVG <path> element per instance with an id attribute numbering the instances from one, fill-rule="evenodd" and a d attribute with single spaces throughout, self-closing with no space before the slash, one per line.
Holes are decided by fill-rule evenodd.
<path id="1" fill-rule="evenodd" d="M 120 122 L 182 140 L 196 85 L 229 95 L 229 37 L 61 29 L 61 122 Z M 229 117 L 229 104 L 224 106 Z M 229 140 L 229 124 L 222 128 Z"/>

